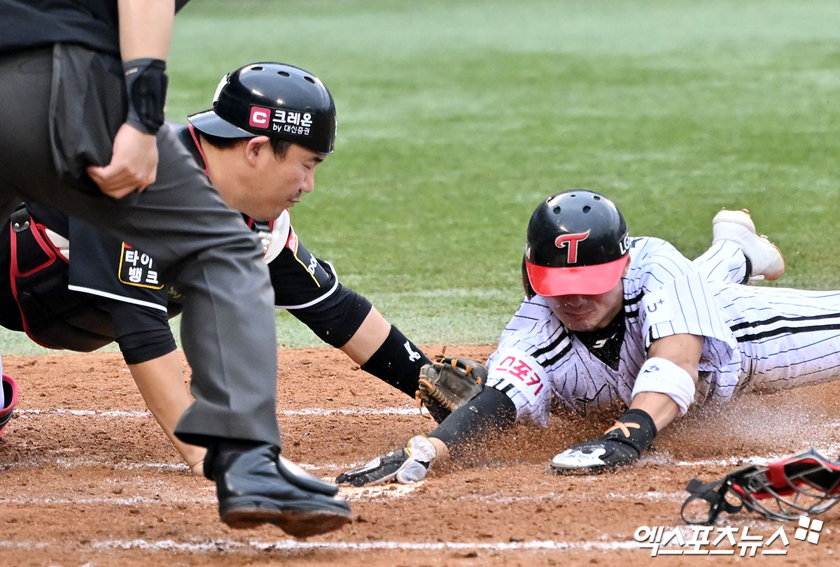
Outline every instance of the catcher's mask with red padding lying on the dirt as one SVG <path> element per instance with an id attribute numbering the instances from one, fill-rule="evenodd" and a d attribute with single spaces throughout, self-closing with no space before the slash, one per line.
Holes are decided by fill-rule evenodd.
<path id="1" fill-rule="evenodd" d="M 769 465 L 748 466 L 721 481 L 703 484 L 693 478 L 685 490 L 691 494 L 681 510 L 685 523 L 713 523 L 721 512 L 742 507 L 771 520 L 795 520 L 825 512 L 840 500 L 840 462 L 809 449 Z M 708 514 L 689 509 L 698 498 L 708 502 Z"/>

